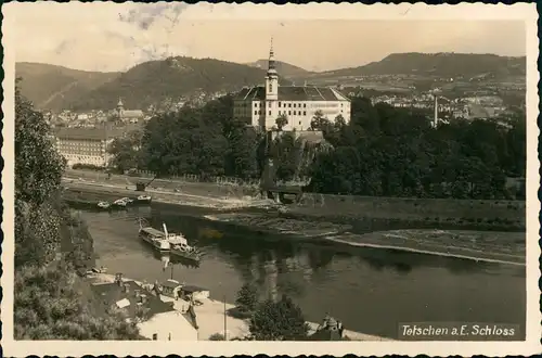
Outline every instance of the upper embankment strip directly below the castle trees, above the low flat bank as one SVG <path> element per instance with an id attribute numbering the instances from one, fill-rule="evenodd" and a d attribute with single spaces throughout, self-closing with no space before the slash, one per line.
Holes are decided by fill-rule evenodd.
<path id="1" fill-rule="evenodd" d="M 67 174 L 64 182 L 69 191 L 86 194 L 134 195 L 138 181 L 147 182 L 147 192 L 156 193 L 157 202 L 219 210 L 245 207 L 276 207 L 272 200 L 259 199 L 257 188 L 223 186 L 209 182 L 112 176 L 82 172 L 82 178 Z M 82 175 L 81 174 L 81 175 Z M 113 190 L 115 188 L 115 190 Z M 128 188 L 128 189 L 127 189 Z M 113 191 L 113 192 L 112 192 Z M 282 216 L 308 220 L 350 225 L 358 231 L 389 229 L 481 230 L 525 232 L 525 201 L 506 200 L 446 200 L 372 197 L 304 193 L 298 203 L 284 205 Z"/>

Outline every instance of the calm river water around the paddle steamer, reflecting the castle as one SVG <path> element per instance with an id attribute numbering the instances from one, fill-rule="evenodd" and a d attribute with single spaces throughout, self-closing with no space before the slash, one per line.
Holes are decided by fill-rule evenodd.
<path id="1" fill-rule="evenodd" d="M 525 267 L 224 231 L 204 220 L 206 213 L 153 204 L 81 215 L 94 238 L 98 265 L 111 273 L 149 282 L 172 274 L 228 303 L 253 281 L 262 297 L 289 295 L 307 320 L 319 322 L 330 312 L 348 330 L 391 338 L 401 322 L 515 323 L 525 337 Z M 138 217 L 182 231 L 205 252 L 199 267 L 177 261 L 164 270 L 159 255 L 138 239 Z"/>

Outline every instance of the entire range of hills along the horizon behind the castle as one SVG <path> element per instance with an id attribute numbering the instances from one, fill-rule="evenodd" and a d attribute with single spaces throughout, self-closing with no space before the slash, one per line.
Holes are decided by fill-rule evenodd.
<path id="1" fill-rule="evenodd" d="M 464 53 L 395 53 L 363 66 L 326 72 L 309 72 L 285 63 L 276 63 L 281 84 L 325 80 L 369 75 L 417 75 L 421 77 L 493 78 L 525 76 L 526 57 Z M 69 69 L 40 63 L 17 63 L 24 95 L 41 108 L 91 110 L 114 108 L 122 98 L 127 108 L 144 110 L 168 99 L 198 91 L 234 91 L 243 86 L 261 85 L 267 60 L 237 64 L 214 59 L 169 57 L 137 65 L 126 73 L 99 73 Z"/>

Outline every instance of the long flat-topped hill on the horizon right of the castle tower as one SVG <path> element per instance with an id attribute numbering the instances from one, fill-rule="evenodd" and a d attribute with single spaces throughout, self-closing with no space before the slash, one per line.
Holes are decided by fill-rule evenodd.
<path id="1" fill-rule="evenodd" d="M 525 76 L 526 57 L 476 53 L 392 53 L 364 66 L 328 71 L 315 77 L 420 75 L 438 77 Z"/>

